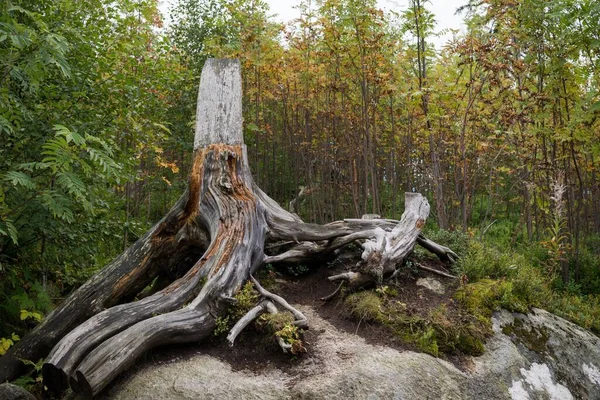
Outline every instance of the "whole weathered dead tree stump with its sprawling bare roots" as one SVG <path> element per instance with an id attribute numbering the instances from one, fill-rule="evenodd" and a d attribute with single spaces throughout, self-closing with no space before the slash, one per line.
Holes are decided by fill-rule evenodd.
<path id="1" fill-rule="evenodd" d="M 0 381 L 18 376 L 19 358 L 47 356 L 45 386 L 54 391 L 71 386 L 92 397 L 145 351 L 210 335 L 216 318 L 248 279 L 263 299 L 234 326 L 232 343 L 253 318 L 278 307 L 291 311 L 296 324 L 306 328 L 302 313 L 252 276 L 266 263 L 311 260 L 359 243 L 364 252 L 356 271 L 331 279 L 360 287 L 393 274 L 417 242 L 442 259 L 456 257 L 420 235 L 429 204 L 419 194 L 406 195 L 401 221 L 314 225 L 279 207 L 252 180 L 241 98 L 239 63 L 207 61 L 188 190 L 144 237 L 0 358 Z M 266 245 L 286 250 L 266 255 Z M 133 301 L 155 277 L 170 283 Z"/>

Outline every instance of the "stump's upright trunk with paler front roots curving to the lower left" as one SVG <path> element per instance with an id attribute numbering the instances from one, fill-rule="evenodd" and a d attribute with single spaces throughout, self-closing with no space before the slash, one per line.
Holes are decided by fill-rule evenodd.
<path id="1" fill-rule="evenodd" d="M 230 62 L 216 62 L 216 65 L 208 62 L 205 71 L 208 75 L 217 73 L 223 79 L 232 79 L 235 87 L 236 74 L 232 70 L 236 67 L 232 65 Z M 239 64 L 237 73 L 239 77 Z M 214 79 L 205 81 L 213 82 Z M 223 97 L 226 91 L 220 96 L 223 104 L 232 103 Z M 199 109 L 202 107 L 199 105 Z M 217 113 L 223 111 L 218 106 L 215 110 Z M 241 118 L 241 109 L 239 111 Z M 227 126 L 237 127 L 239 131 L 208 135 L 210 140 L 235 143 L 236 138 L 242 137 L 241 124 L 220 117 L 211 121 L 213 127 L 229 124 Z M 190 176 L 191 195 L 181 203 L 182 215 L 186 225 L 206 227 L 212 238 L 211 245 L 185 279 L 139 304 L 107 310 L 66 337 L 53 351 L 56 357 L 52 360 L 59 362 L 45 366 L 46 376 L 51 378 L 52 371 L 66 366 L 62 373 L 63 376 L 70 375 L 71 386 L 93 396 L 143 351 L 160 344 L 198 340 L 208 335 L 214 328 L 215 316 L 226 308 L 226 299 L 239 290 L 250 272 L 262 262 L 266 231 L 264 208 L 256 202 L 251 185 L 243 145 L 210 143 L 196 149 Z M 232 243 L 239 245 L 232 246 Z M 202 276 L 208 277 L 208 282 L 200 288 L 198 282 Z M 196 298 L 184 309 L 173 311 L 189 301 L 190 294 Z M 154 312 L 148 315 L 152 307 Z M 131 311 L 125 314 L 124 322 L 113 317 L 124 311 Z M 156 311 L 166 313 L 156 315 Z M 105 323 L 107 320 L 109 323 Z M 86 337 L 87 332 L 92 334 Z"/>

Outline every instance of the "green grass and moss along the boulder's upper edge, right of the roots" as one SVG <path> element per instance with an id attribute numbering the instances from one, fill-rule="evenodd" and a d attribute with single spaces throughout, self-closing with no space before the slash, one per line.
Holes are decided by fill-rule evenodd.
<path id="1" fill-rule="evenodd" d="M 428 236 L 461 256 L 453 267 L 463 282 L 454 295 L 458 314 L 455 311 L 448 317 L 442 304 L 426 315 L 414 315 L 393 293 L 380 288 L 348 295 L 346 315 L 386 326 L 406 343 L 434 356 L 482 354 L 485 338 L 492 334 L 492 314 L 499 309 L 526 313 L 531 307 L 543 308 L 600 334 L 599 257 L 582 252 L 579 270 L 588 279 L 564 287 L 557 284 L 558 277 L 549 275 L 552 257 L 540 245 L 499 249 L 460 232 L 438 231 Z M 414 256 L 431 257 L 419 249 Z"/>

